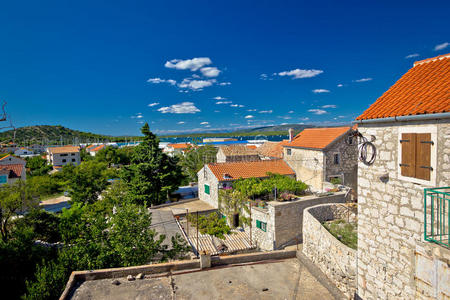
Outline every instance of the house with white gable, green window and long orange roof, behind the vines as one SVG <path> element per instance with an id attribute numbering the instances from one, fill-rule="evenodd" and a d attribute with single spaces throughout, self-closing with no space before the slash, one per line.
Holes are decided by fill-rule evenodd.
<path id="1" fill-rule="evenodd" d="M 198 197 L 211 206 L 219 206 L 219 190 L 229 188 L 239 178 L 265 178 L 267 173 L 295 176 L 295 172 L 281 159 L 211 163 L 198 173 Z"/>

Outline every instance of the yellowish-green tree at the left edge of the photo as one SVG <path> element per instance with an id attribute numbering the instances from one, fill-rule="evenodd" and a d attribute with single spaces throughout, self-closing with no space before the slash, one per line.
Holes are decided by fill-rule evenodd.
<path id="1" fill-rule="evenodd" d="M 0 189 L 0 232 L 4 242 L 9 238 L 11 218 L 37 205 L 38 200 L 33 195 L 33 190 L 22 180 Z"/>

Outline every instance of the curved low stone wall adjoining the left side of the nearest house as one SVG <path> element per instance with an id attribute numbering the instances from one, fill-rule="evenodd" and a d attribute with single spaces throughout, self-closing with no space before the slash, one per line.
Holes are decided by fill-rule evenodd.
<path id="1" fill-rule="evenodd" d="M 347 218 L 348 210 L 344 204 L 322 204 L 305 209 L 303 213 L 303 253 L 316 264 L 322 272 L 348 298 L 356 293 L 357 251 L 337 240 L 322 225 L 323 222 Z M 350 218 L 355 221 L 354 212 Z"/>

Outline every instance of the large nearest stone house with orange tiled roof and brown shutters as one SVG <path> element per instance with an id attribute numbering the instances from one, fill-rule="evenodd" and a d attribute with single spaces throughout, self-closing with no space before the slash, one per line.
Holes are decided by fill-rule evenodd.
<path id="1" fill-rule="evenodd" d="M 355 123 L 375 153 L 358 165 L 358 296 L 449 299 L 450 54 L 416 62 Z"/>

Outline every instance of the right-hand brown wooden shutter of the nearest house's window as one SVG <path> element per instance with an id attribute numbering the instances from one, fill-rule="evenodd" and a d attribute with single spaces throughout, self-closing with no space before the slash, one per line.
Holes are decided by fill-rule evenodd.
<path id="1" fill-rule="evenodd" d="M 430 180 L 431 134 L 418 133 L 416 137 L 416 178 Z"/>

